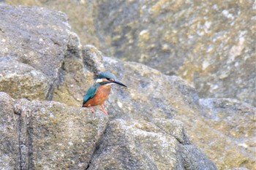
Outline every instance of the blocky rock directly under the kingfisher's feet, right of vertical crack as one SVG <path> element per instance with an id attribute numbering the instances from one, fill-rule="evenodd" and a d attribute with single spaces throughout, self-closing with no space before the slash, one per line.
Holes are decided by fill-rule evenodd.
<path id="1" fill-rule="evenodd" d="M 15 103 L 22 169 L 86 169 L 108 118 L 53 101 Z M 49 156 L 50 155 L 50 156 Z"/>

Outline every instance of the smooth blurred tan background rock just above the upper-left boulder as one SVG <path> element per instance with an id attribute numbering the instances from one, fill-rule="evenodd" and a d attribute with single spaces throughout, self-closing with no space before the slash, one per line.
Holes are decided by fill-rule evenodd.
<path id="1" fill-rule="evenodd" d="M 29 5 L 47 7 L 65 12 L 69 16 L 69 23 L 72 31 L 77 33 L 83 45 L 99 46 L 99 39 L 94 28 L 93 12 L 97 1 L 91 0 L 4 0 L 7 4 L 12 5 Z"/>

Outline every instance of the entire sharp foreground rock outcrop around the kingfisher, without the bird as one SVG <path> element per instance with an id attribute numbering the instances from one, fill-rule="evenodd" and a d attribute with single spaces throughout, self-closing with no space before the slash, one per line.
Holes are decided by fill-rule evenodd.
<path id="1" fill-rule="evenodd" d="M 254 169 L 254 107 L 232 99 L 200 99 L 195 88 L 180 77 L 167 76 L 140 63 L 102 56 L 96 47 L 80 45 L 78 36 L 69 30 L 67 18 L 61 12 L 5 4 L 0 8 L 8 9 L 10 14 L 10 20 L 0 22 L 0 28 L 5 28 L 0 32 L 0 42 L 6 42 L 2 47 L 13 51 L 0 50 L 3 66 L 0 81 L 7 83 L 0 85 L 0 90 L 10 95 L 0 93 L 0 126 L 8 127 L 0 131 L 0 135 L 5 136 L 0 139 L 2 167 L 217 169 L 214 166 L 217 163 L 219 169 Z M 12 21 L 15 19 L 12 13 L 23 16 L 20 24 Z M 0 18 L 6 17 L 0 14 Z M 17 31 L 24 31 L 34 20 L 40 23 L 38 16 L 45 14 L 52 18 L 48 21 L 53 22 L 49 36 L 33 28 L 27 29 L 28 36 L 10 36 L 6 29 L 15 24 Z M 43 22 L 47 23 L 44 18 Z M 47 27 L 49 24 L 45 23 L 42 26 Z M 37 53 L 37 47 L 33 53 L 33 48 L 19 46 L 30 32 L 33 37 L 50 39 L 58 30 L 64 34 L 63 42 L 54 47 L 59 53 L 51 52 L 51 43 L 42 43 L 41 53 Z M 40 39 L 30 41 L 30 44 L 37 44 Z M 31 57 L 23 60 L 18 51 L 26 53 L 28 50 Z M 45 56 L 48 63 L 44 65 L 41 60 Z M 94 74 L 103 70 L 113 72 L 129 87 L 113 86 L 113 93 L 105 104 L 109 120 L 102 112 L 91 113 L 89 109 L 80 108 L 85 90 L 94 82 Z M 26 79 L 23 80 L 22 74 Z M 7 147 L 9 145 L 12 147 Z"/>

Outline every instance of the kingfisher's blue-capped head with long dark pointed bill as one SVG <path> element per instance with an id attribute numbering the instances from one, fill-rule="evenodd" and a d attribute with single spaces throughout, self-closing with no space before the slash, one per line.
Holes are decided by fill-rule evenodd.
<path id="1" fill-rule="evenodd" d="M 116 76 L 110 72 L 100 72 L 96 82 L 98 82 L 100 85 L 113 85 L 115 83 L 127 87 L 127 85 L 124 85 L 122 82 L 117 80 Z"/>

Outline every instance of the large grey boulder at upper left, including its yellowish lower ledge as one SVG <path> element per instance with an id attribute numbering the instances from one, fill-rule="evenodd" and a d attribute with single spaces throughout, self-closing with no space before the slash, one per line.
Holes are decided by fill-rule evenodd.
<path id="1" fill-rule="evenodd" d="M 7 87 L 9 81 L 14 82 L 8 90 L 12 98 L 50 99 L 69 41 L 67 16 L 38 7 L 0 4 L 0 20 L 1 83 Z M 7 91 L 3 86 L 0 90 Z"/>

